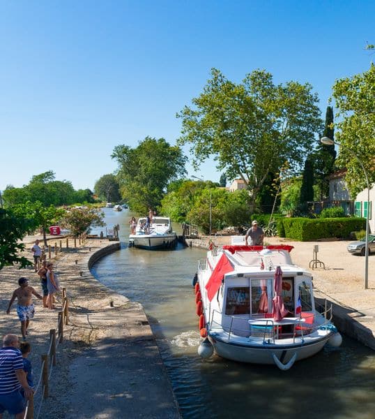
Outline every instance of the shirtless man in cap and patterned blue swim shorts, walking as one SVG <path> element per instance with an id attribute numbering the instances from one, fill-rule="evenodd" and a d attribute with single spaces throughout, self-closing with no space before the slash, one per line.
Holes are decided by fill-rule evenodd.
<path id="1" fill-rule="evenodd" d="M 20 288 L 17 288 L 13 292 L 6 314 L 10 313 L 10 307 L 12 307 L 14 300 L 17 298 L 17 314 L 21 322 L 21 333 L 23 339 L 26 339 L 27 328 L 29 328 L 30 320 L 35 313 L 34 304 L 32 302 L 33 295 L 38 297 L 39 300 L 43 300 L 43 297 L 38 294 L 32 286 L 29 286 L 27 278 L 20 278 L 18 280 L 18 285 L 20 285 Z"/>

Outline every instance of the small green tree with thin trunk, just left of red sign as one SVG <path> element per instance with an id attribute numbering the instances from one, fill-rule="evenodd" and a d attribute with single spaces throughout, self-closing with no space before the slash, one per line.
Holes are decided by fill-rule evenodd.
<path id="1" fill-rule="evenodd" d="M 54 224 L 60 221 L 63 214 L 65 214 L 63 208 L 56 208 L 54 205 L 45 207 L 40 201 L 36 201 L 36 203 L 28 201 L 24 204 L 15 205 L 13 207 L 13 212 L 17 216 L 32 220 L 34 230 L 36 230 L 36 228 L 42 230 L 45 246 L 47 246 L 46 233 L 49 226 L 54 226 Z"/>

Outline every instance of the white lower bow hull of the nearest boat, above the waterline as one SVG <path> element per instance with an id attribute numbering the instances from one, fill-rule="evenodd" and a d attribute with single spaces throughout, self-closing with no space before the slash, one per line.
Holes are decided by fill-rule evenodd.
<path id="1" fill-rule="evenodd" d="M 210 335 L 208 335 L 208 339 L 211 341 L 211 344 L 213 344 L 215 353 L 222 358 L 251 364 L 275 365 L 273 355 L 275 355 L 282 364 L 287 364 L 295 354 L 296 361 L 315 355 L 321 351 L 328 339 L 330 339 L 330 334 L 309 343 L 280 346 L 273 344 L 270 344 L 270 346 L 267 346 L 266 344 L 258 346 L 234 344 L 234 342 L 228 343 Z"/>

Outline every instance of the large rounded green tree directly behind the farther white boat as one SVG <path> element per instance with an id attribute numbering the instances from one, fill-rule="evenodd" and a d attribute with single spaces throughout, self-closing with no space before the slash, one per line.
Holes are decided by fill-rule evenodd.
<path id="1" fill-rule="evenodd" d="M 169 145 L 164 138 L 146 137 L 134 149 L 118 145 L 112 159 L 118 162 L 123 198 L 140 214 L 159 207 L 169 182 L 186 173 L 181 148 Z"/>

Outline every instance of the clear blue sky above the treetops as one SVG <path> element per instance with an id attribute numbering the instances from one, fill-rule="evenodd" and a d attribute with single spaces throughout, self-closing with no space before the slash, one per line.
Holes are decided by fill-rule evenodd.
<path id="1" fill-rule="evenodd" d="M 116 145 L 175 144 L 213 67 L 309 82 L 325 115 L 335 80 L 374 60 L 374 16 L 367 0 L 0 0 L 0 189 L 47 170 L 93 189 Z"/>

